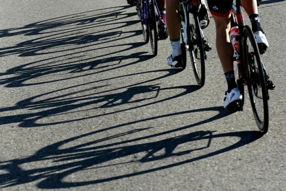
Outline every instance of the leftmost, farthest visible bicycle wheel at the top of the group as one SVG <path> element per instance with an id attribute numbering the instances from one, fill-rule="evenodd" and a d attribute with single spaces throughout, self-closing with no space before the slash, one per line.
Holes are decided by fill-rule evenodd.
<path id="1" fill-rule="evenodd" d="M 141 20 L 141 27 L 142 27 L 144 42 L 148 43 L 149 42 L 149 30 L 148 30 L 148 25 L 146 23 L 146 20 L 144 18 L 145 14 L 147 14 L 146 9 L 147 7 L 144 8 L 143 0 L 138 0 L 136 10 L 137 10 L 139 19 Z M 145 13 L 143 11 L 145 11 Z"/>

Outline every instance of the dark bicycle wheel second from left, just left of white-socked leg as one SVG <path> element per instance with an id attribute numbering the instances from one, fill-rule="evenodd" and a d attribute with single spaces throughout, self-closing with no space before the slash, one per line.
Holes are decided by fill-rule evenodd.
<path id="1" fill-rule="evenodd" d="M 155 14 L 154 0 L 149 1 L 148 10 L 150 11 L 149 12 L 150 15 L 148 14 L 148 31 L 150 37 L 150 44 L 151 44 L 152 54 L 156 56 L 158 50 L 158 33 L 157 33 L 158 15 Z"/>

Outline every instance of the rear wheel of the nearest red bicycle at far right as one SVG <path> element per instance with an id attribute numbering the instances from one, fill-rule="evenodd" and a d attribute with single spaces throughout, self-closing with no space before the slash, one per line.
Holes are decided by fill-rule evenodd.
<path id="1" fill-rule="evenodd" d="M 269 123 L 268 93 L 259 50 L 249 26 L 243 28 L 242 49 L 252 111 L 260 132 L 265 134 Z"/>

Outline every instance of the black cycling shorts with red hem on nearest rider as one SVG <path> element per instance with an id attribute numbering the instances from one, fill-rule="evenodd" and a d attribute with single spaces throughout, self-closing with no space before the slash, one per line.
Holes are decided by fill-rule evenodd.
<path id="1" fill-rule="evenodd" d="M 207 0 L 212 15 L 225 17 L 231 13 L 233 0 Z"/>

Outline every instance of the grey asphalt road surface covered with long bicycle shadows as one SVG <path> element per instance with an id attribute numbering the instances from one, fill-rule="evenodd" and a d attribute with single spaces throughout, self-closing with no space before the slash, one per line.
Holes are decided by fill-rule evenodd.
<path id="1" fill-rule="evenodd" d="M 0 0 L 0 190 L 285 191 L 285 0 L 263 0 L 269 131 L 222 108 L 214 20 L 206 84 L 152 57 L 126 0 Z M 245 14 L 246 22 L 249 19 Z"/>

